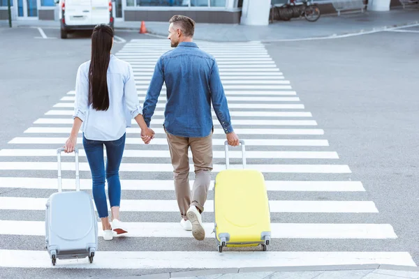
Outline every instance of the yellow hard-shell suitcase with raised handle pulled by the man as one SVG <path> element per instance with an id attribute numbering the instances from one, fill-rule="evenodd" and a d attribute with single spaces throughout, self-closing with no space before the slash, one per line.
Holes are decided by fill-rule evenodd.
<path id="1" fill-rule="evenodd" d="M 256 169 L 246 168 L 244 141 L 243 169 L 229 169 L 228 142 L 226 169 L 216 175 L 214 183 L 214 232 L 219 252 L 223 247 L 262 246 L 270 244 L 270 209 L 265 179 Z"/>

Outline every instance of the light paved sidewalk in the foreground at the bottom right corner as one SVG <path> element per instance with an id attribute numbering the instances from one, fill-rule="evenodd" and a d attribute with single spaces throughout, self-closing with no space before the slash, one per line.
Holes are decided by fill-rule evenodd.
<path id="1" fill-rule="evenodd" d="M 124 279 L 401 279 L 419 278 L 415 266 L 365 264 L 353 266 L 300 266 L 219 269 L 131 276 Z M 122 279 L 122 278 L 110 278 Z"/>

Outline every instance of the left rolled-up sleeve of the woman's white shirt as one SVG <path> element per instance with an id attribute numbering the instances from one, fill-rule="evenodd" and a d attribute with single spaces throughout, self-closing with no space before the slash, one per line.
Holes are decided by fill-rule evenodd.
<path id="1" fill-rule="evenodd" d="M 75 101 L 73 119 L 76 117 L 84 121 L 89 108 L 89 80 L 83 71 L 83 65 L 78 68 L 75 78 Z"/>

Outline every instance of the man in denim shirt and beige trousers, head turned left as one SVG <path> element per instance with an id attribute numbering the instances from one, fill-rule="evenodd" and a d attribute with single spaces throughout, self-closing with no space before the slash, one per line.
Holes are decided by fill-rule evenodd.
<path id="1" fill-rule="evenodd" d="M 201 213 L 204 211 L 213 167 L 214 126 L 211 102 L 226 133 L 228 144 L 237 146 L 239 139 L 231 126 L 216 61 L 193 43 L 194 29 L 195 22 L 189 17 L 175 15 L 170 19 L 168 39 L 175 48 L 157 61 L 142 112 L 149 126 L 165 82 L 167 103 L 163 127 L 174 169 L 175 193 L 182 216 L 180 223 L 184 229 L 191 230 L 196 239 L 203 240 L 205 230 Z M 189 186 L 189 146 L 196 173 L 192 199 Z"/>

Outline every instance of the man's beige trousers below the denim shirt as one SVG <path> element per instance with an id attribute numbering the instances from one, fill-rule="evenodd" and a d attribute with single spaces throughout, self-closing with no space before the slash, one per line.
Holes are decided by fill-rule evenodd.
<path id="1" fill-rule="evenodd" d="M 212 132 L 213 133 L 213 132 Z M 207 137 L 178 137 L 166 131 L 170 158 L 173 165 L 173 180 L 180 215 L 187 220 L 189 206 L 196 206 L 202 213 L 207 200 L 212 171 L 212 133 Z M 195 182 L 189 186 L 189 146 L 195 168 Z"/>

